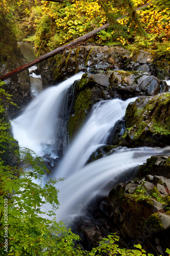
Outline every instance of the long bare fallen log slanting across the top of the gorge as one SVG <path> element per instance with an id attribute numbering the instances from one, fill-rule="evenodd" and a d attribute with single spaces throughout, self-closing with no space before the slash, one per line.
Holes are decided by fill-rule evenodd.
<path id="1" fill-rule="evenodd" d="M 136 10 L 140 10 L 143 7 L 148 6 L 150 4 L 151 4 L 151 2 L 141 6 L 139 8 L 137 8 Z M 128 14 L 125 14 L 124 16 L 122 16 L 122 17 L 120 17 L 118 19 L 122 19 L 126 15 L 128 15 Z M 76 47 L 81 42 L 96 36 L 97 33 L 99 33 L 101 30 L 107 29 L 109 26 L 110 26 L 110 23 L 107 23 L 107 24 L 101 26 L 100 28 L 94 29 L 94 30 L 92 30 L 91 32 L 89 32 L 87 34 L 82 35 L 82 36 L 76 38 L 75 40 L 70 41 L 68 44 L 63 45 L 63 46 L 61 46 L 61 47 L 59 47 L 59 48 L 57 48 L 57 49 L 55 49 L 55 50 L 53 50 L 51 52 L 48 52 L 48 53 L 40 56 L 39 58 L 37 58 L 37 59 L 35 59 L 35 60 L 33 60 L 33 61 L 31 61 L 31 62 L 29 62 L 29 63 L 27 63 L 27 64 L 25 64 L 25 65 L 23 65 L 21 67 L 19 67 L 18 69 L 16 69 L 16 70 L 14 70 L 14 71 L 12 71 L 12 72 L 10 72 L 10 73 L 0 77 L 0 80 L 4 81 L 4 80 L 10 78 L 11 76 L 14 76 L 14 75 L 16 75 L 16 74 L 26 70 L 26 69 L 29 69 L 32 66 L 34 66 L 34 65 L 36 65 L 36 64 L 38 64 L 38 63 L 40 63 L 40 62 L 42 62 L 42 61 L 44 61 L 46 59 L 49 59 L 49 58 L 51 58 L 51 57 L 53 57 L 53 56 L 55 56 L 55 55 L 57 55 L 57 54 L 59 54 L 61 52 L 64 52 L 66 49 L 69 49 L 69 48 L 72 48 L 72 47 Z"/>

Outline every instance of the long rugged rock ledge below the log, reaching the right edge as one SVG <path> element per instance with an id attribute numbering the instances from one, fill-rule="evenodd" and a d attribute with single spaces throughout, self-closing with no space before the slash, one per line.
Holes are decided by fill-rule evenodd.
<path id="1" fill-rule="evenodd" d="M 159 79 L 169 79 L 170 61 L 151 51 L 131 53 L 122 47 L 78 46 L 40 63 L 44 86 L 59 82 L 80 71 L 91 74 L 108 70 L 142 71 Z"/>

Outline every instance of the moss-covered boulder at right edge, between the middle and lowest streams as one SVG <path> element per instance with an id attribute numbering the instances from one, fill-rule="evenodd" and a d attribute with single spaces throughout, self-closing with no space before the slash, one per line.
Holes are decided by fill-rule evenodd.
<path id="1" fill-rule="evenodd" d="M 120 145 L 164 146 L 170 143 L 170 94 L 139 97 L 126 111 L 126 131 Z"/>

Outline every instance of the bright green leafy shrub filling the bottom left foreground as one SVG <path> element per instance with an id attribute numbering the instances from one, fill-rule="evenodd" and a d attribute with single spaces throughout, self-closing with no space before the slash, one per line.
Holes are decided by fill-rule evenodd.
<path id="1" fill-rule="evenodd" d="M 2 86 L 0 81 L 0 254 L 81 255 L 74 246 L 79 236 L 55 218 L 44 217 L 52 219 L 59 207 L 56 184 L 62 179 L 42 186 L 48 172 L 43 160 L 27 148 L 19 152 L 6 119 L 11 95 Z M 42 207 L 46 203 L 48 210 Z"/>

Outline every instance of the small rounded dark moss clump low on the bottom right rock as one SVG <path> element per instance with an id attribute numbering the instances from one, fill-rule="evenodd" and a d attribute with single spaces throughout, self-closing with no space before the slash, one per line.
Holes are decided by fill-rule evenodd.
<path id="1" fill-rule="evenodd" d="M 159 219 L 159 214 L 152 214 L 147 221 L 145 221 L 145 226 L 149 227 L 149 232 L 158 233 L 163 230 L 163 225 Z"/>

